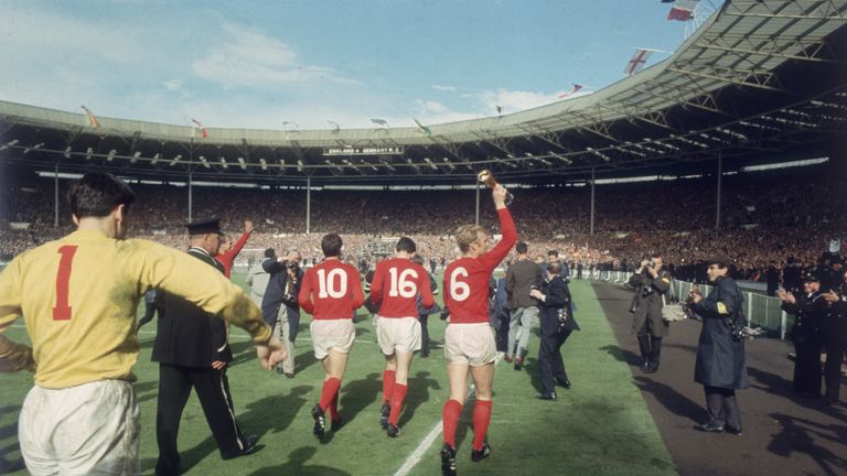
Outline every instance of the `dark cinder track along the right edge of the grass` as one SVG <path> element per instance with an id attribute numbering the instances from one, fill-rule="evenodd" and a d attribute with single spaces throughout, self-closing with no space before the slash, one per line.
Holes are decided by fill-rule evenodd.
<path id="1" fill-rule="evenodd" d="M 795 394 L 790 342 L 760 338 L 747 344 L 750 387 L 738 392 L 743 434 L 695 431 L 705 421 L 703 387 L 694 382 L 698 321 L 672 324 L 656 374 L 642 374 L 639 348 L 630 333 L 632 293 L 594 283 L 594 292 L 618 339 L 611 348 L 626 361 L 647 402 L 662 439 L 684 476 L 694 475 L 847 475 L 847 385 L 841 404 Z"/>

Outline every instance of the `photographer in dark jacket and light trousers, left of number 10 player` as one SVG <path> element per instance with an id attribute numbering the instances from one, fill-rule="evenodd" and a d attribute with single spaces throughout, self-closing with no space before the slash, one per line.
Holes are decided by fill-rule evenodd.
<path id="1" fill-rule="evenodd" d="M 288 378 L 294 377 L 294 339 L 300 327 L 300 305 L 297 303 L 303 279 L 300 260 L 300 251 L 290 249 L 285 258 L 269 258 L 261 263 L 270 274 L 261 300 L 261 313 L 265 322 L 274 327 L 275 335 L 288 347 L 288 357 L 277 366 L 277 374 Z"/>

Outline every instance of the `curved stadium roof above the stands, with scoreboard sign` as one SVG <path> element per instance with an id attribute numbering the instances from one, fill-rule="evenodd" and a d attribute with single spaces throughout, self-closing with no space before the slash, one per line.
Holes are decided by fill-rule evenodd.
<path id="1" fill-rule="evenodd" d="M 686 174 L 827 155 L 847 131 L 847 1 L 727 1 L 667 60 L 593 94 L 420 128 L 208 129 L 0 101 L 0 161 L 159 177 L 458 184 Z"/>

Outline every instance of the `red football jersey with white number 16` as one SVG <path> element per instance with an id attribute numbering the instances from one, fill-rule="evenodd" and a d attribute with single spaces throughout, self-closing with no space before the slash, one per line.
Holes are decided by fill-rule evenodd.
<path id="1" fill-rule="evenodd" d="M 406 258 L 392 258 L 376 264 L 371 282 L 371 301 L 379 304 L 380 317 L 417 317 L 418 293 L 424 307 L 432 307 L 436 299 L 422 266 Z"/>

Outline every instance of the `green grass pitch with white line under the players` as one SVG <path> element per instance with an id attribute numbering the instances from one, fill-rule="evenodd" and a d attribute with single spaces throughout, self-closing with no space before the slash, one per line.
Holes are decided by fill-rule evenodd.
<path id="1" fill-rule="evenodd" d="M 235 281 L 243 283 L 240 275 Z M 538 392 L 538 340 L 530 342 L 523 371 L 500 361 L 494 376 L 494 404 L 489 441 L 491 457 L 470 461 L 473 439 L 473 402 L 463 409 L 458 434 L 458 466 L 462 475 L 676 474 L 671 455 L 656 430 L 625 363 L 615 358 L 615 345 L 605 316 L 587 281 L 575 281 L 571 292 L 578 303 L 582 332 L 573 333 L 562 347 L 565 365 L 573 387 L 560 390 L 557 402 L 535 399 Z M 192 397 L 180 428 L 183 470 L 195 475 L 394 475 L 421 442 L 441 422 L 448 396 L 444 361 L 440 349 L 444 324 L 429 321 L 437 348 L 426 359 L 412 363 L 406 409 L 400 416 L 404 434 L 388 439 L 377 422 L 384 359 L 376 345 L 371 320 L 364 313 L 356 324 L 357 342 L 341 388 L 341 414 L 345 425 L 328 432 L 323 443 L 312 436 L 309 410 L 321 392 L 323 370 L 314 360 L 309 340 L 309 317 L 298 336 L 297 377 L 288 379 L 266 372 L 254 358 L 246 334 L 234 328 L 236 356 L 228 370 L 237 419 L 246 433 L 261 436 L 260 450 L 247 457 L 222 461 L 203 412 Z M 150 361 L 156 323 L 142 327 L 141 354 L 136 366 L 136 390 L 141 401 L 141 465 L 152 474 L 156 446 L 158 366 Z M 7 334 L 29 342 L 22 321 Z M 18 413 L 32 386 L 29 374 L 0 376 L 0 473 L 20 458 L 17 439 Z M 410 475 L 439 474 L 440 433 L 424 447 Z M 13 474 L 25 474 L 19 470 Z"/>

